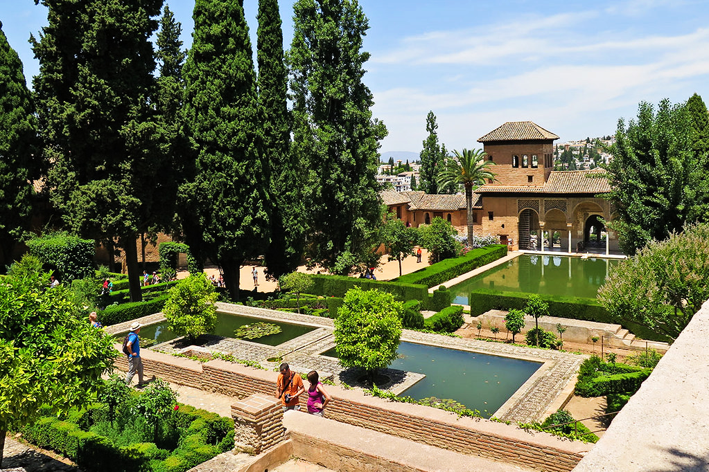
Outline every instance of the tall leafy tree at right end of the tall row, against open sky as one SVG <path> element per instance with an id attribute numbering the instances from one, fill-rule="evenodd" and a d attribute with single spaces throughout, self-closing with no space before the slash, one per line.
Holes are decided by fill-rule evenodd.
<path id="1" fill-rule="evenodd" d="M 386 127 L 362 82 L 369 29 L 356 0 L 298 0 L 288 54 L 294 149 L 310 171 L 306 208 L 313 260 L 337 273 L 371 258 L 381 225 L 376 168 Z M 369 261 L 367 261 L 369 262 Z"/>

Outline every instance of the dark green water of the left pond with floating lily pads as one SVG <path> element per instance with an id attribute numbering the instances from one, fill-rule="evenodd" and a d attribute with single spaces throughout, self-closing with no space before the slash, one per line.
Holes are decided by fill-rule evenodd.
<path id="1" fill-rule="evenodd" d="M 289 323 L 279 323 L 278 321 L 262 320 L 259 318 L 249 318 L 247 316 L 231 315 L 229 313 L 217 312 L 216 328 L 211 334 L 223 336 L 224 338 L 233 338 L 234 331 L 240 326 L 250 325 L 252 323 L 271 323 L 281 327 L 281 332 L 277 334 L 263 336 L 262 338 L 250 339 L 253 343 L 265 344 L 269 346 L 277 346 L 285 343 L 300 335 L 310 333 L 316 329 L 313 326 L 291 325 Z M 116 335 L 118 339 L 122 339 L 125 334 Z M 177 338 L 177 335 L 167 328 L 167 321 L 156 323 L 154 325 L 140 328 L 140 338 L 155 340 L 155 343 L 164 343 Z"/>

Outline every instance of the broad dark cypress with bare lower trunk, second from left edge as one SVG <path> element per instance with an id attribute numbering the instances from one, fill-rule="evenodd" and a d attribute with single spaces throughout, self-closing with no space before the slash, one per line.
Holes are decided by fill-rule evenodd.
<path id="1" fill-rule="evenodd" d="M 43 0 L 49 24 L 32 38 L 34 88 L 52 203 L 77 234 L 125 250 L 140 300 L 135 241 L 162 202 L 161 132 L 152 43 L 162 0 Z"/>

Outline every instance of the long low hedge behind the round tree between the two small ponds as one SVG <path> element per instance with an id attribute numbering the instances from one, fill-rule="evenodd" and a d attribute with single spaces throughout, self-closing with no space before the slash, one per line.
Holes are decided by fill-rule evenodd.
<path id="1" fill-rule="evenodd" d="M 428 303 L 428 287 L 420 284 L 385 282 L 371 279 L 357 279 L 343 275 L 311 275 L 313 286 L 308 293 L 323 297 L 345 297 L 347 290 L 357 286 L 362 290 L 388 292 L 402 301 L 420 300 Z"/>

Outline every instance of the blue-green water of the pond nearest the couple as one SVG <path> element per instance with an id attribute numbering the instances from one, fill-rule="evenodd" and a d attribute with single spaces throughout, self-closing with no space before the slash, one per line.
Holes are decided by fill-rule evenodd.
<path id="1" fill-rule="evenodd" d="M 323 355 L 337 357 L 334 349 Z M 415 343 L 401 343 L 398 355 L 389 367 L 425 374 L 401 395 L 450 398 L 485 416 L 495 413 L 542 365 Z"/>

